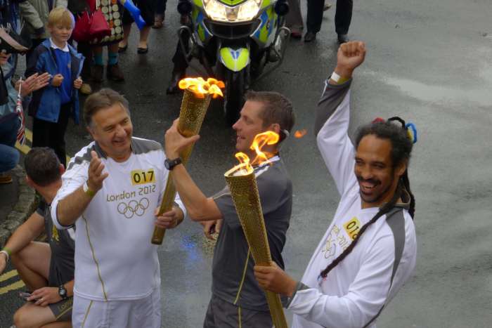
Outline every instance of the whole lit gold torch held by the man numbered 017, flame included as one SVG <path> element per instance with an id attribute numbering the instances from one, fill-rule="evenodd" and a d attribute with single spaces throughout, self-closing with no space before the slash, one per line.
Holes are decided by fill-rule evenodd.
<path id="1" fill-rule="evenodd" d="M 197 79 L 186 78 L 179 81 L 179 88 L 184 89 L 183 100 L 181 102 L 181 110 L 179 112 L 178 131 L 182 136 L 187 138 L 195 136 L 200 132 L 205 113 L 210 104 L 211 98 L 223 96 L 221 88 L 224 88 L 224 82 L 216 79 L 207 79 L 205 81 L 201 77 Z M 186 147 L 180 154 L 183 165 L 188 162 L 188 158 L 193 150 L 193 145 Z M 169 171 L 166 188 L 162 196 L 159 215 L 170 211 L 176 197 L 176 188 L 172 182 L 172 171 Z M 164 228 L 154 228 L 154 233 L 151 242 L 160 245 L 164 239 Z"/>

